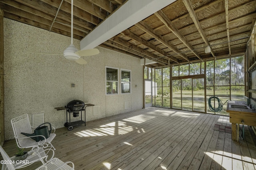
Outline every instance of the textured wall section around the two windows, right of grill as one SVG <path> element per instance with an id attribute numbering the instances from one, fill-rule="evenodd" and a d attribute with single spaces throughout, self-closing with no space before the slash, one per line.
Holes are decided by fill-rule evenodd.
<path id="1" fill-rule="evenodd" d="M 102 47 L 97 47 L 100 54 L 96 56 L 85 57 L 88 62 L 84 67 L 84 101 L 99 105 L 100 115 L 94 116 L 90 107 L 86 108 L 86 120 L 94 120 L 102 117 L 108 117 L 119 113 L 141 109 L 142 104 L 142 66 L 140 59 L 111 51 Z M 118 95 L 106 95 L 106 66 L 119 69 L 131 70 L 131 94 L 121 94 L 119 82 Z M 137 87 L 135 87 L 137 85 Z M 124 102 L 129 102 L 129 108 L 124 109 Z"/>

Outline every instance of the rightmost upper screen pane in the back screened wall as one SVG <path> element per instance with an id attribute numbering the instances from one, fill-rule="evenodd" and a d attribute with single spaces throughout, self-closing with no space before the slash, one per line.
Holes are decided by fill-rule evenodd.
<path id="1" fill-rule="evenodd" d="M 231 85 L 244 85 L 244 56 L 231 59 Z"/>

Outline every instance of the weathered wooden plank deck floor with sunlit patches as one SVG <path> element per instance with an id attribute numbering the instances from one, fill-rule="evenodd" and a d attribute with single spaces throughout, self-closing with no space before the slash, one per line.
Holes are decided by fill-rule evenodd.
<path id="1" fill-rule="evenodd" d="M 76 170 L 256 170 L 252 129 L 238 143 L 215 124 L 231 127 L 226 116 L 148 107 L 57 129 L 52 145 Z M 15 141 L 3 148 L 14 155 Z"/>

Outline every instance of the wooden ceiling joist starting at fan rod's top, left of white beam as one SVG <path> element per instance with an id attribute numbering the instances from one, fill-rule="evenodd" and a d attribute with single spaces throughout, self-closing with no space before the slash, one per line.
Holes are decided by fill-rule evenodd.
<path id="1" fill-rule="evenodd" d="M 71 5 L 71 0 L 65 0 L 65 1 L 70 3 Z M 87 0 L 75 0 L 74 6 L 102 20 L 104 20 L 108 16 L 108 13 L 105 10 L 101 10 L 100 7 L 88 2 Z"/>

